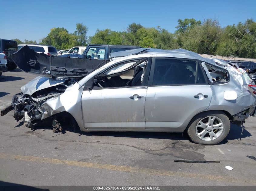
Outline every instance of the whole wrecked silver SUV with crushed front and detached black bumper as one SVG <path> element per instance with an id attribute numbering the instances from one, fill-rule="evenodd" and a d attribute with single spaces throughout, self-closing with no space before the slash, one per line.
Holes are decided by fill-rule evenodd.
<path id="1" fill-rule="evenodd" d="M 99 66 L 25 48 L 13 59 L 44 76 L 12 100 L 14 118 L 28 127 L 51 119 L 61 130 L 65 118 L 85 132 L 187 131 L 192 141 L 214 145 L 228 135 L 230 121 L 255 116 L 256 86 L 244 70 L 184 49 L 111 53 Z"/>

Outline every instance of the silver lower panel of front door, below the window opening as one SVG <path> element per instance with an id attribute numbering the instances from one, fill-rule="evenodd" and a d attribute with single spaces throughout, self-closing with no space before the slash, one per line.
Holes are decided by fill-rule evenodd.
<path id="1" fill-rule="evenodd" d="M 86 129 L 145 129 L 146 87 L 85 90 L 81 104 Z"/>

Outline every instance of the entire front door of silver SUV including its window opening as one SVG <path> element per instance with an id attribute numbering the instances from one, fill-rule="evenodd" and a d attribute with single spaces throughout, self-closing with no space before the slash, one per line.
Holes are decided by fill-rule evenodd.
<path id="1" fill-rule="evenodd" d="M 86 129 L 145 129 L 145 100 L 151 59 L 131 60 L 95 76 L 81 97 Z"/>

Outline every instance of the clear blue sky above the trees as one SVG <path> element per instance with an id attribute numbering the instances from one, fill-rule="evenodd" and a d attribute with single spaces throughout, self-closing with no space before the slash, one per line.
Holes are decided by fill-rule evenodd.
<path id="1" fill-rule="evenodd" d="M 247 18 L 256 21 L 255 8 L 255 0 L 1 1 L 0 38 L 39 42 L 53 27 L 65 27 L 73 33 L 76 23 L 88 27 L 88 36 L 97 28 L 124 31 L 133 22 L 174 32 L 178 19 L 185 18 L 203 21 L 216 17 L 224 27 Z"/>

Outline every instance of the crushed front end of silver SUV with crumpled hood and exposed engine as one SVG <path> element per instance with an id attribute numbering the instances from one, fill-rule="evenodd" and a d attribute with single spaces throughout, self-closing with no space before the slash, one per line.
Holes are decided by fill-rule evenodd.
<path id="1" fill-rule="evenodd" d="M 76 81 L 78 79 L 61 78 L 56 80 L 43 77 L 35 78 L 21 88 L 22 93 L 13 96 L 13 117 L 16 121 L 23 119 L 25 126 L 32 128 L 34 124 L 40 122 L 42 119 L 45 112 L 42 108 L 44 103 L 51 98 L 63 94 L 66 88 Z M 32 86 L 34 83 L 36 85 Z M 48 88 L 45 88 L 45 86 L 48 86 Z M 36 89 L 32 87 L 36 87 Z"/>

